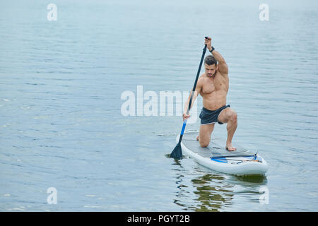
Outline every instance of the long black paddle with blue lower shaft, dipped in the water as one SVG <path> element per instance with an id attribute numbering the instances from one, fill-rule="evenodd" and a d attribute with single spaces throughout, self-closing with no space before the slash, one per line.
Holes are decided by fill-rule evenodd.
<path id="1" fill-rule="evenodd" d="M 208 37 L 205 37 L 205 38 L 207 39 Z M 194 91 L 196 90 L 196 83 L 198 82 L 198 78 L 199 78 L 199 74 L 200 74 L 200 71 L 201 71 L 201 66 L 202 66 L 205 54 L 206 54 L 206 44 L 204 45 L 201 61 L 200 61 L 200 64 L 199 64 L 199 69 L 198 69 L 198 72 L 196 73 L 196 81 L 194 82 L 194 85 L 193 85 L 192 94 L 191 94 L 190 101 L 189 101 L 189 106 L 188 106 L 188 109 L 187 109 L 187 114 L 189 114 L 189 110 L 190 110 L 191 105 L 192 105 L 192 97 L 194 95 Z M 181 159 L 182 158 L 181 141 L 182 141 L 182 136 L 183 136 L 184 129 L 185 129 L 186 125 L 187 125 L 187 119 L 185 119 L 183 121 L 182 129 L 181 129 L 181 133 L 180 133 L 180 137 L 179 137 L 179 142 L 175 146 L 175 149 L 172 150 L 172 153 L 170 154 L 170 157 L 174 157 L 174 158 L 177 158 L 177 159 Z"/>

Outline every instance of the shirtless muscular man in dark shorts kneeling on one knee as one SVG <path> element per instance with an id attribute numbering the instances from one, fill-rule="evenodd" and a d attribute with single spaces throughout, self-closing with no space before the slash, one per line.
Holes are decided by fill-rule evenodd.
<path id="1" fill-rule="evenodd" d="M 237 113 L 230 105 L 226 105 L 226 95 L 228 94 L 229 79 L 228 65 L 223 57 L 211 46 L 211 37 L 205 40 L 207 49 L 212 55 L 208 55 L 204 59 L 205 73 L 203 73 L 196 84 L 196 90 L 192 99 L 192 105 L 199 95 L 203 98 L 203 108 L 200 114 L 201 125 L 199 136 L 196 140 L 199 141 L 201 147 L 205 148 L 211 141 L 211 133 L 216 122 L 218 124 L 228 124 L 228 138 L 225 148 L 227 150 L 236 150 L 232 146 L 232 138 L 237 128 Z M 187 114 L 189 99 L 184 107 L 183 119 L 190 117 Z M 192 107 L 192 106 L 191 106 Z"/>

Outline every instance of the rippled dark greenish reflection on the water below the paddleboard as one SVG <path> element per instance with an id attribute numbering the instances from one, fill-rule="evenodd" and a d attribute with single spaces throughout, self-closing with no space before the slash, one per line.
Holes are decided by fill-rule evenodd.
<path id="1" fill-rule="evenodd" d="M 199 165 L 188 169 L 186 162 L 182 165 L 182 160 L 174 160 L 172 165 L 178 167 L 175 168 L 178 191 L 174 202 L 183 210 L 222 211 L 230 209 L 236 199 L 242 198 L 259 203 L 260 188 L 267 184 L 266 176 L 219 174 Z"/>

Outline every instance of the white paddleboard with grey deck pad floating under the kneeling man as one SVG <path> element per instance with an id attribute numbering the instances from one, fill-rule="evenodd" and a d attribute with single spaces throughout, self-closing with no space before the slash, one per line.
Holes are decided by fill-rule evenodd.
<path id="1" fill-rule="evenodd" d="M 185 155 L 217 172 L 235 175 L 264 175 L 269 168 L 267 162 L 258 153 L 251 153 L 245 148 L 235 145 L 237 150 L 225 149 L 225 141 L 211 139 L 206 148 L 202 148 L 196 141 L 197 131 L 186 131 L 183 134 L 181 147 Z M 179 135 L 176 142 L 179 141 Z"/>

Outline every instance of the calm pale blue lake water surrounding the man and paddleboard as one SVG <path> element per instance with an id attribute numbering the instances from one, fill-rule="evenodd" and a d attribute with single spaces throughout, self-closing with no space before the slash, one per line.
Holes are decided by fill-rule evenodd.
<path id="1" fill-rule="evenodd" d="M 49 3 L 57 20 L 47 19 Z M 269 20 L 259 19 L 263 3 Z M 1 211 L 318 210 L 316 1 L 0 8 Z M 160 91 L 191 90 L 206 35 L 228 62 L 233 142 L 259 151 L 266 177 L 167 158 L 182 127 L 176 113 L 122 114 L 125 91 L 136 95 L 136 114 L 138 87 L 158 95 L 159 114 Z M 213 137 L 225 142 L 226 126 Z M 56 205 L 47 202 L 50 187 Z"/>

